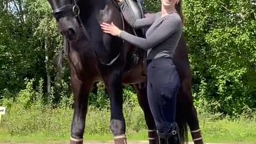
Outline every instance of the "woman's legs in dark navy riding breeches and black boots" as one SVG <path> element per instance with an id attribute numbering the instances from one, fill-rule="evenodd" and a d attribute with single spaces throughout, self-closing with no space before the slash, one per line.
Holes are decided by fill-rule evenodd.
<path id="1" fill-rule="evenodd" d="M 179 144 L 175 112 L 180 79 L 172 60 L 154 59 L 148 66 L 148 81 L 151 83 L 148 101 L 155 119 L 159 142 Z"/>

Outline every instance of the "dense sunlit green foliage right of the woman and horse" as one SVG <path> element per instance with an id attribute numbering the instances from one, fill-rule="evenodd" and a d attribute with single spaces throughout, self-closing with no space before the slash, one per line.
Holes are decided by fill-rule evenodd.
<path id="1" fill-rule="evenodd" d="M 184 1 L 197 105 L 224 114 L 255 108 L 255 2 Z"/>

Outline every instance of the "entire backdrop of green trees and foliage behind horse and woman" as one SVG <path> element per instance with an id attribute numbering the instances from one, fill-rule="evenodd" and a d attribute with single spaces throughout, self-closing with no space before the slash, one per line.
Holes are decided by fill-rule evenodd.
<path id="1" fill-rule="evenodd" d="M 255 111 L 255 3 L 183 1 L 193 95 L 199 113 L 238 117 Z M 161 8 L 159 1 L 153 0 L 145 0 L 145 6 L 149 11 Z M 33 91 L 40 89 L 40 107 L 59 107 L 63 103 L 71 107 L 67 63 L 61 75 L 56 66 L 62 37 L 47 1 L 1 0 L 0 7 L 1 105 L 11 107 L 29 91 L 24 98 L 29 107 L 29 102 L 37 99 Z M 132 86 L 125 86 L 124 99 L 131 105 L 138 104 L 134 92 Z M 90 94 L 90 106 L 109 107 L 102 83 L 98 83 L 98 91 Z"/>

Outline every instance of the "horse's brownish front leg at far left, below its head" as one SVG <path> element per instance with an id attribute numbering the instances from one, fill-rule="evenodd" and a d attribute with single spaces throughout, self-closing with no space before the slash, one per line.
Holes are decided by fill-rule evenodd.
<path id="1" fill-rule="evenodd" d="M 71 87 L 74 94 L 74 115 L 71 125 L 70 144 L 82 144 L 87 113 L 88 97 L 92 89 L 93 81 L 87 78 L 80 81 L 71 71 Z"/>

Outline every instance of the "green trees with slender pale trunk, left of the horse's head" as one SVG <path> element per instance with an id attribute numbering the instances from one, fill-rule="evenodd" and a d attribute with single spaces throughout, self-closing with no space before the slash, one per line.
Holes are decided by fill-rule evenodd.
<path id="1" fill-rule="evenodd" d="M 17 93 L 26 86 L 26 78 L 35 78 L 36 83 L 43 78 L 48 93 L 51 83 L 59 90 L 56 57 L 62 40 L 48 2 L 6 0 L 1 4 L 0 95 Z"/>

